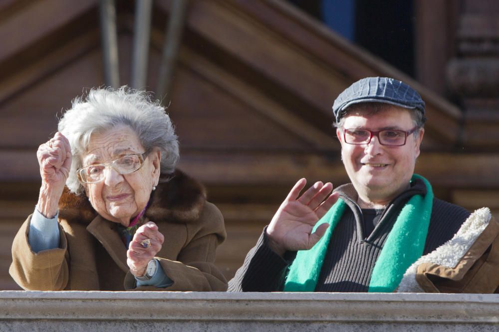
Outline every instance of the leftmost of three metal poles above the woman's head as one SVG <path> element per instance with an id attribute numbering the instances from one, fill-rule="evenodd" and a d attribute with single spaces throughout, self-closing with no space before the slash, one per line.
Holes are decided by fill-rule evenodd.
<path id="1" fill-rule="evenodd" d="M 118 88 L 120 84 L 118 65 L 118 35 L 116 32 L 116 6 L 114 0 L 100 0 L 100 28 L 104 83 Z"/>

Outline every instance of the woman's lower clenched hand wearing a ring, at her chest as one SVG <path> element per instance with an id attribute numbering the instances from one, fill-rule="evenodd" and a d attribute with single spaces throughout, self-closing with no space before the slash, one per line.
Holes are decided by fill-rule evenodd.
<path id="1" fill-rule="evenodd" d="M 147 263 L 161 250 L 164 241 L 165 237 L 152 221 L 137 229 L 126 252 L 126 262 L 134 276 L 142 277 L 146 274 Z"/>

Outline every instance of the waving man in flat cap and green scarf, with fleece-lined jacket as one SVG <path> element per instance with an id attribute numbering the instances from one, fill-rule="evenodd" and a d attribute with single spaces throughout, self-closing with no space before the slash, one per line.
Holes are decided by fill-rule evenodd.
<path id="1" fill-rule="evenodd" d="M 499 224 L 436 198 L 414 173 L 425 103 L 409 85 L 361 79 L 334 101 L 351 183 L 300 179 L 229 282 L 243 292 L 494 293 Z"/>

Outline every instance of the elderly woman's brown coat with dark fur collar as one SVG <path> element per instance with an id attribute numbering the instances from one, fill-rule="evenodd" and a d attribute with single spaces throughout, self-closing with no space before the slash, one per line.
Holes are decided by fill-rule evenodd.
<path id="1" fill-rule="evenodd" d="M 224 220 L 206 201 L 204 188 L 177 171 L 153 191 L 145 220 L 165 236 L 157 254 L 173 285 L 135 288 L 117 223 L 99 216 L 84 196 L 64 191 L 59 201 L 59 248 L 31 251 L 29 216 L 12 244 L 9 273 L 26 290 L 60 291 L 225 291 L 227 281 L 215 266 L 215 251 L 226 237 Z"/>

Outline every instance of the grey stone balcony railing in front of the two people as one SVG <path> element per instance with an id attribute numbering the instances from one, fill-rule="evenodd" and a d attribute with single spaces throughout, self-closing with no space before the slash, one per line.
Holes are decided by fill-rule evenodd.
<path id="1" fill-rule="evenodd" d="M 477 294 L 0 292 L 0 331 L 498 331 Z"/>

